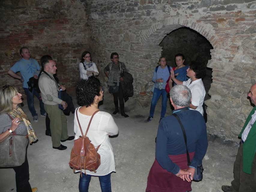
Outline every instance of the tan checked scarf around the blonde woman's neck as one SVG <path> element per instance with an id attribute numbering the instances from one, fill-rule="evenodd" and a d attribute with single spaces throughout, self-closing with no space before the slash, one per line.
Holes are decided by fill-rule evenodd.
<path id="1" fill-rule="evenodd" d="M 33 142 L 35 142 L 36 140 L 38 140 L 35 131 L 29 121 L 28 116 L 24 113 L 24 111 L 20 108 L 17 107 L 17 109 L 13 109 L 10 113 L 9 113 L 13 118 L 17 117 L 22 119 L 22 121 L 25 123 L 26 127 L 27 127 L 27 131 L 28 131 L 28 137 L 29 137 L 29 143 L 32 144 Z"/>

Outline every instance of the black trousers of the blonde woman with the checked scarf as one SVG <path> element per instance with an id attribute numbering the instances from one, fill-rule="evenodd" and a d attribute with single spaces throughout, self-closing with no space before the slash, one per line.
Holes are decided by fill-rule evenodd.
<path id="1" fill-rule="evenodd" d="M 13 167 L 15 171 L 17 192 L 32 192 L 29 184 L 29 162 L 26 154 L 25 162 L 21 166 Z"/>

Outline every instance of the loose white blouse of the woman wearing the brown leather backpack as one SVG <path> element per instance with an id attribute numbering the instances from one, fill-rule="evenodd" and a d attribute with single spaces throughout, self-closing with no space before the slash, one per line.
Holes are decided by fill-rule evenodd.
<path id="1" fill-rule="evenodd" d="M 92 116 L 83 115 L 79 112 L 79 110 L 77 110 L 77 116 L 79 118 L 83 134 L 85 134 Z M 75 140 L 78 139 L 80 135 L 82 135 L 77 122 L 77 116 L 75 115 L 74 118 L 74 132 L 76 134 Z M 101 164 L 96 170 L 97 173 L 86 170 L 86 174 L 94 176 L 104 176 L 113 171 L 116 171 L 114 152 L 110 143 L 110 139 L 108 137 L 109 135 L 116 134 L 118 134 L 118 127 L 114 122 L 113 117 L 109 113 L 99 111 L 94 115 L 86 136 L 89 137 L 89 139 L 92 141 L 91 143 L 95 146 L 95 148 L 101 144 L 98 150 L 98 153 L 101 156 Z M 76 170 L 76 172 L 79 171 L 80 170 Z M 82 172 L 84 173 L 84 170 L 82 170 Z"/>

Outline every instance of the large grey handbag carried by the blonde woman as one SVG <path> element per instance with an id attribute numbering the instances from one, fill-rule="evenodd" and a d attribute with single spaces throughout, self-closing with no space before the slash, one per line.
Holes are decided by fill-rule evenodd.
<path id="1" fill-rule="evenodd" d="M 22 165 L 25 162 L 27 145 L 27 135 L 17 135 L 15 130 L 0 143 L 0 167 Z"/>

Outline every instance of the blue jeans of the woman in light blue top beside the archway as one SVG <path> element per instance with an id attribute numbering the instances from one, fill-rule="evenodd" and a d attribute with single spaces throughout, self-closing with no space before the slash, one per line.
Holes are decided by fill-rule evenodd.
<path id="1" fill-rule="evenodd" d="M 164 117 L 164 115 L 166 113 L 166 107 L 167 107 L 167 92 L 165 91 L 165 89 L 158 89 L 158 88 L 155 88 L 154 92 L 153 92 L 153 97 L 152 97 L 152 100 L 151 100 L 151 106 L 150 106 L 150 111 L 149 111 L 149 116 L 150 117 L 154 116 L 155 106 L 156 106 L 157 101 L 158 101 L 158 99 L 160 98 L 161 95 L 162 95 L 161 118 Z"/>

